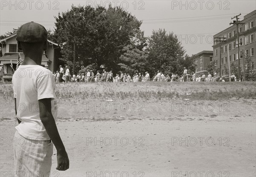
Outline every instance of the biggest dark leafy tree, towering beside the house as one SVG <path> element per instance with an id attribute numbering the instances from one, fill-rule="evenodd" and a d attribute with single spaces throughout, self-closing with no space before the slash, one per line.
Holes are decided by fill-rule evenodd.
<path id="1" fill-rule="evenodd" d="M 72 6 L 55 17 L 56 39 L 62 60 L 73 67 L 73 46 L 76 46 L 76 71 L 81 66 L 104 65 L 114 72 L 120 69 L 122 49 L 140 34 L 141 22 L 121 8 Z"/>

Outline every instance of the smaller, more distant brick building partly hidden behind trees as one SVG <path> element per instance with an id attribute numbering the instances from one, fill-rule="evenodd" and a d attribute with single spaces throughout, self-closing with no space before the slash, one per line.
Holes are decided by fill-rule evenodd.
<path id="1" fill-rule="evenodd" d="M 207 74 L 207 64 L 213 61 L 213 51 L 201 51 L 198 54 L 195 54 L 196 60 L 195 72 L 198 75 Z"/>

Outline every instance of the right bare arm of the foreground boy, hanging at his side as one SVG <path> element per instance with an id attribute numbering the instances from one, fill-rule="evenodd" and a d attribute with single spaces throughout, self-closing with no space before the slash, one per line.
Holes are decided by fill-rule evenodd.
<path id="1" fill-rule="evenodd" d="M 47 131 L 52 143 L 57 150 L 57 170 L 65 171 L 69 168 L 69 159 L 65 150 L 64 144 L 62 143 L 61 137 L 58 133 L 58 129 L 55 120 L 52 116 L 51 111 L 51 99 L 45 98 L 38 100 L 40 109 L 40 119 Z"/>

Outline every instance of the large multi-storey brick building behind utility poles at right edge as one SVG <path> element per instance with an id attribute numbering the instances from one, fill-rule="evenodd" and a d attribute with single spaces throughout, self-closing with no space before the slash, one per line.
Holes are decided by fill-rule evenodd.
<path id="1" fill-rule="evenodd" d="M 229 50 L 230 64 L 234 63 L 238 66 L 238 59 L 240 59 L 240 71 L 243 72 L 243 58 L 251 57 L 252 62 L 250 63 L 251 69 L 256 69 L 256 10 L 250 12 L 244 16 L 244 20 L 239 25 L 239 46 L 240 51 L 238 52 L 237 47 L 237 29 L 236 25 L 232 25 L 227 29 L 215 34 L 214 37 L 227 37 L 225 42 L 214 41 L 213 47 L 213 60 L 216 61 L 216 66 L 221 69 L 219 75 L 225 75 L 225 68 L 228 68 L 227 60 Z M 222 39 L 224 40 L 224 39 Z"/>

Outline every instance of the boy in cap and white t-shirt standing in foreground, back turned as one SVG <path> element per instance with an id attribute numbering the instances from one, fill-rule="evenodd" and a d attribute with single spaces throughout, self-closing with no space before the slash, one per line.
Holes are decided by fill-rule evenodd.
<path id="1" fill-rule="evenodd" d="M 44 26 L 30 22 L 17 31 L 18 48 L 24 61 L 13 75 L 15 113 L 18 121 L 15 140 L 15 174 L 50 176 L 53 144 L 57 150 L 57 170 L 69 168 L 69 159 L 55 124 L 57 102 L 52 72 L 41 66 L 47 50 Z M 53 144 L 52 144 L 53 143 Z"/>

